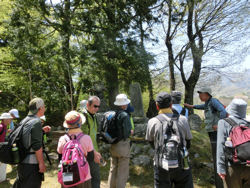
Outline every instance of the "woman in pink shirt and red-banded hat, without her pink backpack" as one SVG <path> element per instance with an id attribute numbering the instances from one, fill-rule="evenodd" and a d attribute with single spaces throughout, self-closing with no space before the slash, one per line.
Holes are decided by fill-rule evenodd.
<path id="1" fill-rule="evenodd" d="M 57 152 L 62 154 L 63 147 L 70 140 L 69 136 L 75 135 L 76 137 L 82 133 L 81 126 L 86 121 L 86 118 L 78 113 L 77 111 L 70 111 L 65 115 L 65 121 L 63 123 L 64 128 L 66 128 L 67 134 L 59 138 Z M 84 125 L 83 125 L 84 126 Z M 84 134 L 80 137 L 79 143 L 84 151 L 84 156 L 87 161 L 94 161 L 94 146 L 89 135 Z M 77 185 L 77 188 L 91 188 L 91 175 L 90 169 L 88 171 L 86 181 L 82 184 Z"/>

